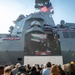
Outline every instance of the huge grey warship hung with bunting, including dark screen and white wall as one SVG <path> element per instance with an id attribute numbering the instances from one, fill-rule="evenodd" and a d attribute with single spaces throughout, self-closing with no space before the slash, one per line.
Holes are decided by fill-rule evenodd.
<path id="1" fill-rule="evenodd" d="M 35 0 L 41 9 L 49 0 Z M 75 23 L 55 24 L 53 11 L 21 14 L 9 34 L 0 34 L 0 64 L 75 62 Z"/>

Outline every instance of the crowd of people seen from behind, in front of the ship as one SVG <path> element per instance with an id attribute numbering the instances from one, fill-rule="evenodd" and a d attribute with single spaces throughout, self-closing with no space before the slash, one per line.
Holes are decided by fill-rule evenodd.
<path id="1" fill-rule="evenodd" d="M 75 64 L 67 63 L 64 65 L 56 65 L 47 62 L 43 66 L 39 64 L 7 65 L 3 69 L 2 75 L 75 75 Z"/>

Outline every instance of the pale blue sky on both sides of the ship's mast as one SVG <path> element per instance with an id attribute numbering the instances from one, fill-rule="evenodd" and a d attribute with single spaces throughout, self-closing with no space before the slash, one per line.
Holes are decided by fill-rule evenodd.
<path id="1" fill-rule="evenodd" d="M 75 23 L 75 0 L 51 0 L 54 8 L 53 19 L 55 24 L 61 20 Z M 0 0 L 0 34 L 9 33 L 9 27 L 20 14 L 29 15 L 37 12 L 34 8 L 35 0 Z"/>

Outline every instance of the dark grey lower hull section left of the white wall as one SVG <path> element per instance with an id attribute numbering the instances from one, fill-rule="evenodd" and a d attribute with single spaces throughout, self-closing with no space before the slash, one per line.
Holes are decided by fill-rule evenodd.
<path id="1" fill-rule="evenodd" d="M 9 65 L 24 62 L 24 51 L 0 51 L 0 64 Z"/>

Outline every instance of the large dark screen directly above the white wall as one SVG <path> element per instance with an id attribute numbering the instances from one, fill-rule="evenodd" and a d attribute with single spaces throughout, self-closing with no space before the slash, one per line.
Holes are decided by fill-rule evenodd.
<path id="1" fill-rule="evenodd" d="M 60 55 L 60 42 L 56 34 L 28 33 L 25 36 L 25 55 Z"/>

